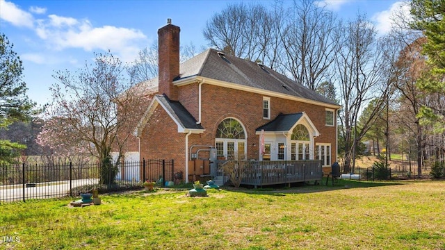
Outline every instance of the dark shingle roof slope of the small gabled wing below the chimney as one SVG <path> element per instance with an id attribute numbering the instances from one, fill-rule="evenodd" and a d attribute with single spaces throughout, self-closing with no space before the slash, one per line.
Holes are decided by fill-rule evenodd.
<path id="1" fill-rule="evenodd" d="M 191 115 L 179 101 L 171 101 L 164 94 L 156 94 L 156 97 L 159 99 L 159 102 L 163 104 L 166 111 L 170 113 L 183 128 L 204 129 L 201 124 L 196 124 L 193 115 Z"/>

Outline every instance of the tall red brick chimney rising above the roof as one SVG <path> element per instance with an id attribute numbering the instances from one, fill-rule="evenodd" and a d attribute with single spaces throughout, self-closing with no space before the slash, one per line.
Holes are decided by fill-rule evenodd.
<path id="1" fill-rule="evenodd" d="M 159 94 L 166 94 L 170 100 L 178 101 L 178 90 L 173 79 L 179 76 L 179 31 L 167 19 L 167 25 L 159 28 Z"/>

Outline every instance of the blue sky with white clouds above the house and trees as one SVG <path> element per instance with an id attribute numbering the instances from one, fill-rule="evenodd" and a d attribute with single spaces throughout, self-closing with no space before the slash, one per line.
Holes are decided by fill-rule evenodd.
<path id="1" fill-rule="evenodd" d="M 287 1 L 287 0 L 286 0 Z M 379 33 L 389 31 L 396 0 L 321 0 L 343 19 L 366 14 Z M 0 33 L 24 65 L 28 96 L 38 104 L 51 99 L 57 70 L 74 71 L 92 60 L 93 52 L 111 50 L 124 62 L 156 41 L 167 18 L 181 28 L 181 44 L 205 46 L 202 30 L 215 13 L 239 1 L 14 1 L 0 0 Z M 252 1 L 244 1 L 250 3 Z M 273 1 L 259 1 L 270 6 Z"/>

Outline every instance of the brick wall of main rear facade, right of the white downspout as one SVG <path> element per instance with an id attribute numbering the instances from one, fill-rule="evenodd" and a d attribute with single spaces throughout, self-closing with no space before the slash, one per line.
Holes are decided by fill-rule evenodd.
<path id="1" fill-rule="evenodd" d="M 248 136 L 248 156 L 255 155 L 256 152 L 249 152 L 252 144 L 258 144 L 259 137 L 255 135 L 255 130 L 261 125 L 270 122 L 280 113 L 305 112 L 314 123 L 314 126 L 321 133 L 315 142 L 330 143 L 332 145 L 331 156 L 337 158 L 335 127 L 325 126 L 325 107 L 316 106 L 309 103 L 291 101 L 270 97 L 270 117 L 263 119 L 263 97 L 262 94 L 243 92 L 222 88 L 215 85 L 202 85 L 202 126 L 206 128 L 203 137 L 207 142 L 214 144 L 214 135 L 218 124 L 227 117 L 236 117 L 246 128 Z M 254 149 L 257 151 L 258 149 Z M 257 158 L 258 154 L 256 153 Z"/>

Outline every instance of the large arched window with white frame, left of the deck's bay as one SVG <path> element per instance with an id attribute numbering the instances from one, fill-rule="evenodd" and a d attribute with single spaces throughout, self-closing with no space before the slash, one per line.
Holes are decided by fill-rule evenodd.
<path id="1" fill-rule="evenodd" d="M 245 159 L 247 141 L 244 127 L 237 119 L 223 120 L 216 129 L 215 141 L 218 158 Z"/>

